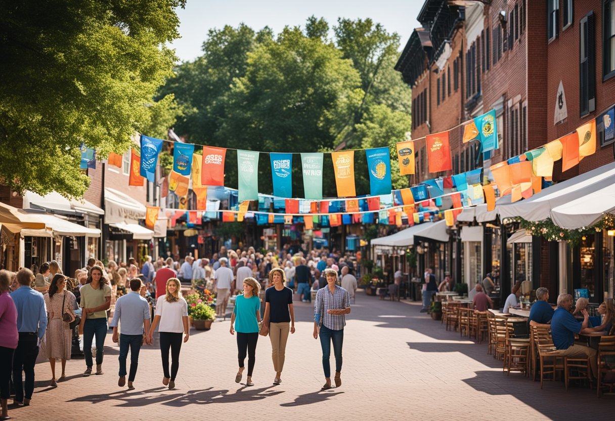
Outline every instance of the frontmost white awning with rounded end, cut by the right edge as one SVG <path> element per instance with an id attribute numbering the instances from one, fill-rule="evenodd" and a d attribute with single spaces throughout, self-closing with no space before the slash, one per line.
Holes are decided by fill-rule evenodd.
<path id="1" fill-rule="evenodd" d="M 603 214 L 615 211 L 615 184 L 554 207 L 551 219 L 561 228 L 591 227 Z"/>

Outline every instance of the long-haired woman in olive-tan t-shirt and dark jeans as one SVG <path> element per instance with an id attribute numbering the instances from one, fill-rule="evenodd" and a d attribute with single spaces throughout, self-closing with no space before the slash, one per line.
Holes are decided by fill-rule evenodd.
<path id="1" fill-rule="evenodd" d="M 103 373 L 103 348 L 107 335 L 107 310 L 111 307 L 111 287 L 103 283 L 103 269 L 94 265 L 90 268 L 87 281 L 79 289 L 81 293 L 81 324 L 85 356 L 84 377 L 92 374 L 92 340 L 96 337 L 96 375 Z"/>

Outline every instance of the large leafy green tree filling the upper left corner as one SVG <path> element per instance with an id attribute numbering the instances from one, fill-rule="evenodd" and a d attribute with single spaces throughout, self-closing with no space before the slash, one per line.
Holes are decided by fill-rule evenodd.
<path id="1" fill-rule="evenodd" d="M 164 44 L 178 38 L 174 9 L 184 4 L 1 1 L 0 182 L 82 196 L 82 142 L 105 157 L 127 150 L 139 127 L 161 132 L 157 118 L 177 108 L 153 97 L 171 74 Z"/>

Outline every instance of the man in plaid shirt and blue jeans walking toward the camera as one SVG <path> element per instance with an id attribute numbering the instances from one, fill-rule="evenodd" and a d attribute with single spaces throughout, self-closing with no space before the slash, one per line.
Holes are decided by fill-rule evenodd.
<path id="1" fill-rule="evenodd" d="M 320 334 L 322 348 L 322 368 L 325 372 L 325 385 L 322 390 L 331 388 L 331 341 L 335 354 L 335 387 L 342 385 L 342 345 L 344 343 L 344 326 L 346 316 L 350 314 L 350 295 L 348 291 L 336 284 L 338 273 L 334 269 L 325 269 L 327 286 L 316 293 L 314 305 L 314 339 Z"/>

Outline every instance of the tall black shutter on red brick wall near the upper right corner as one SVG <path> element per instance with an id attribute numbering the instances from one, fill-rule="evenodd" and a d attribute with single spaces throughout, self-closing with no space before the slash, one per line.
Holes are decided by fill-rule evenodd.
<path id="1" fill-rule="evenodd" d="M 593 11 L 581 19 L 580 26 L 579 113 L 581 116 L 585 116 L 596 109 L 595 25 L 593 23 Z"/>

